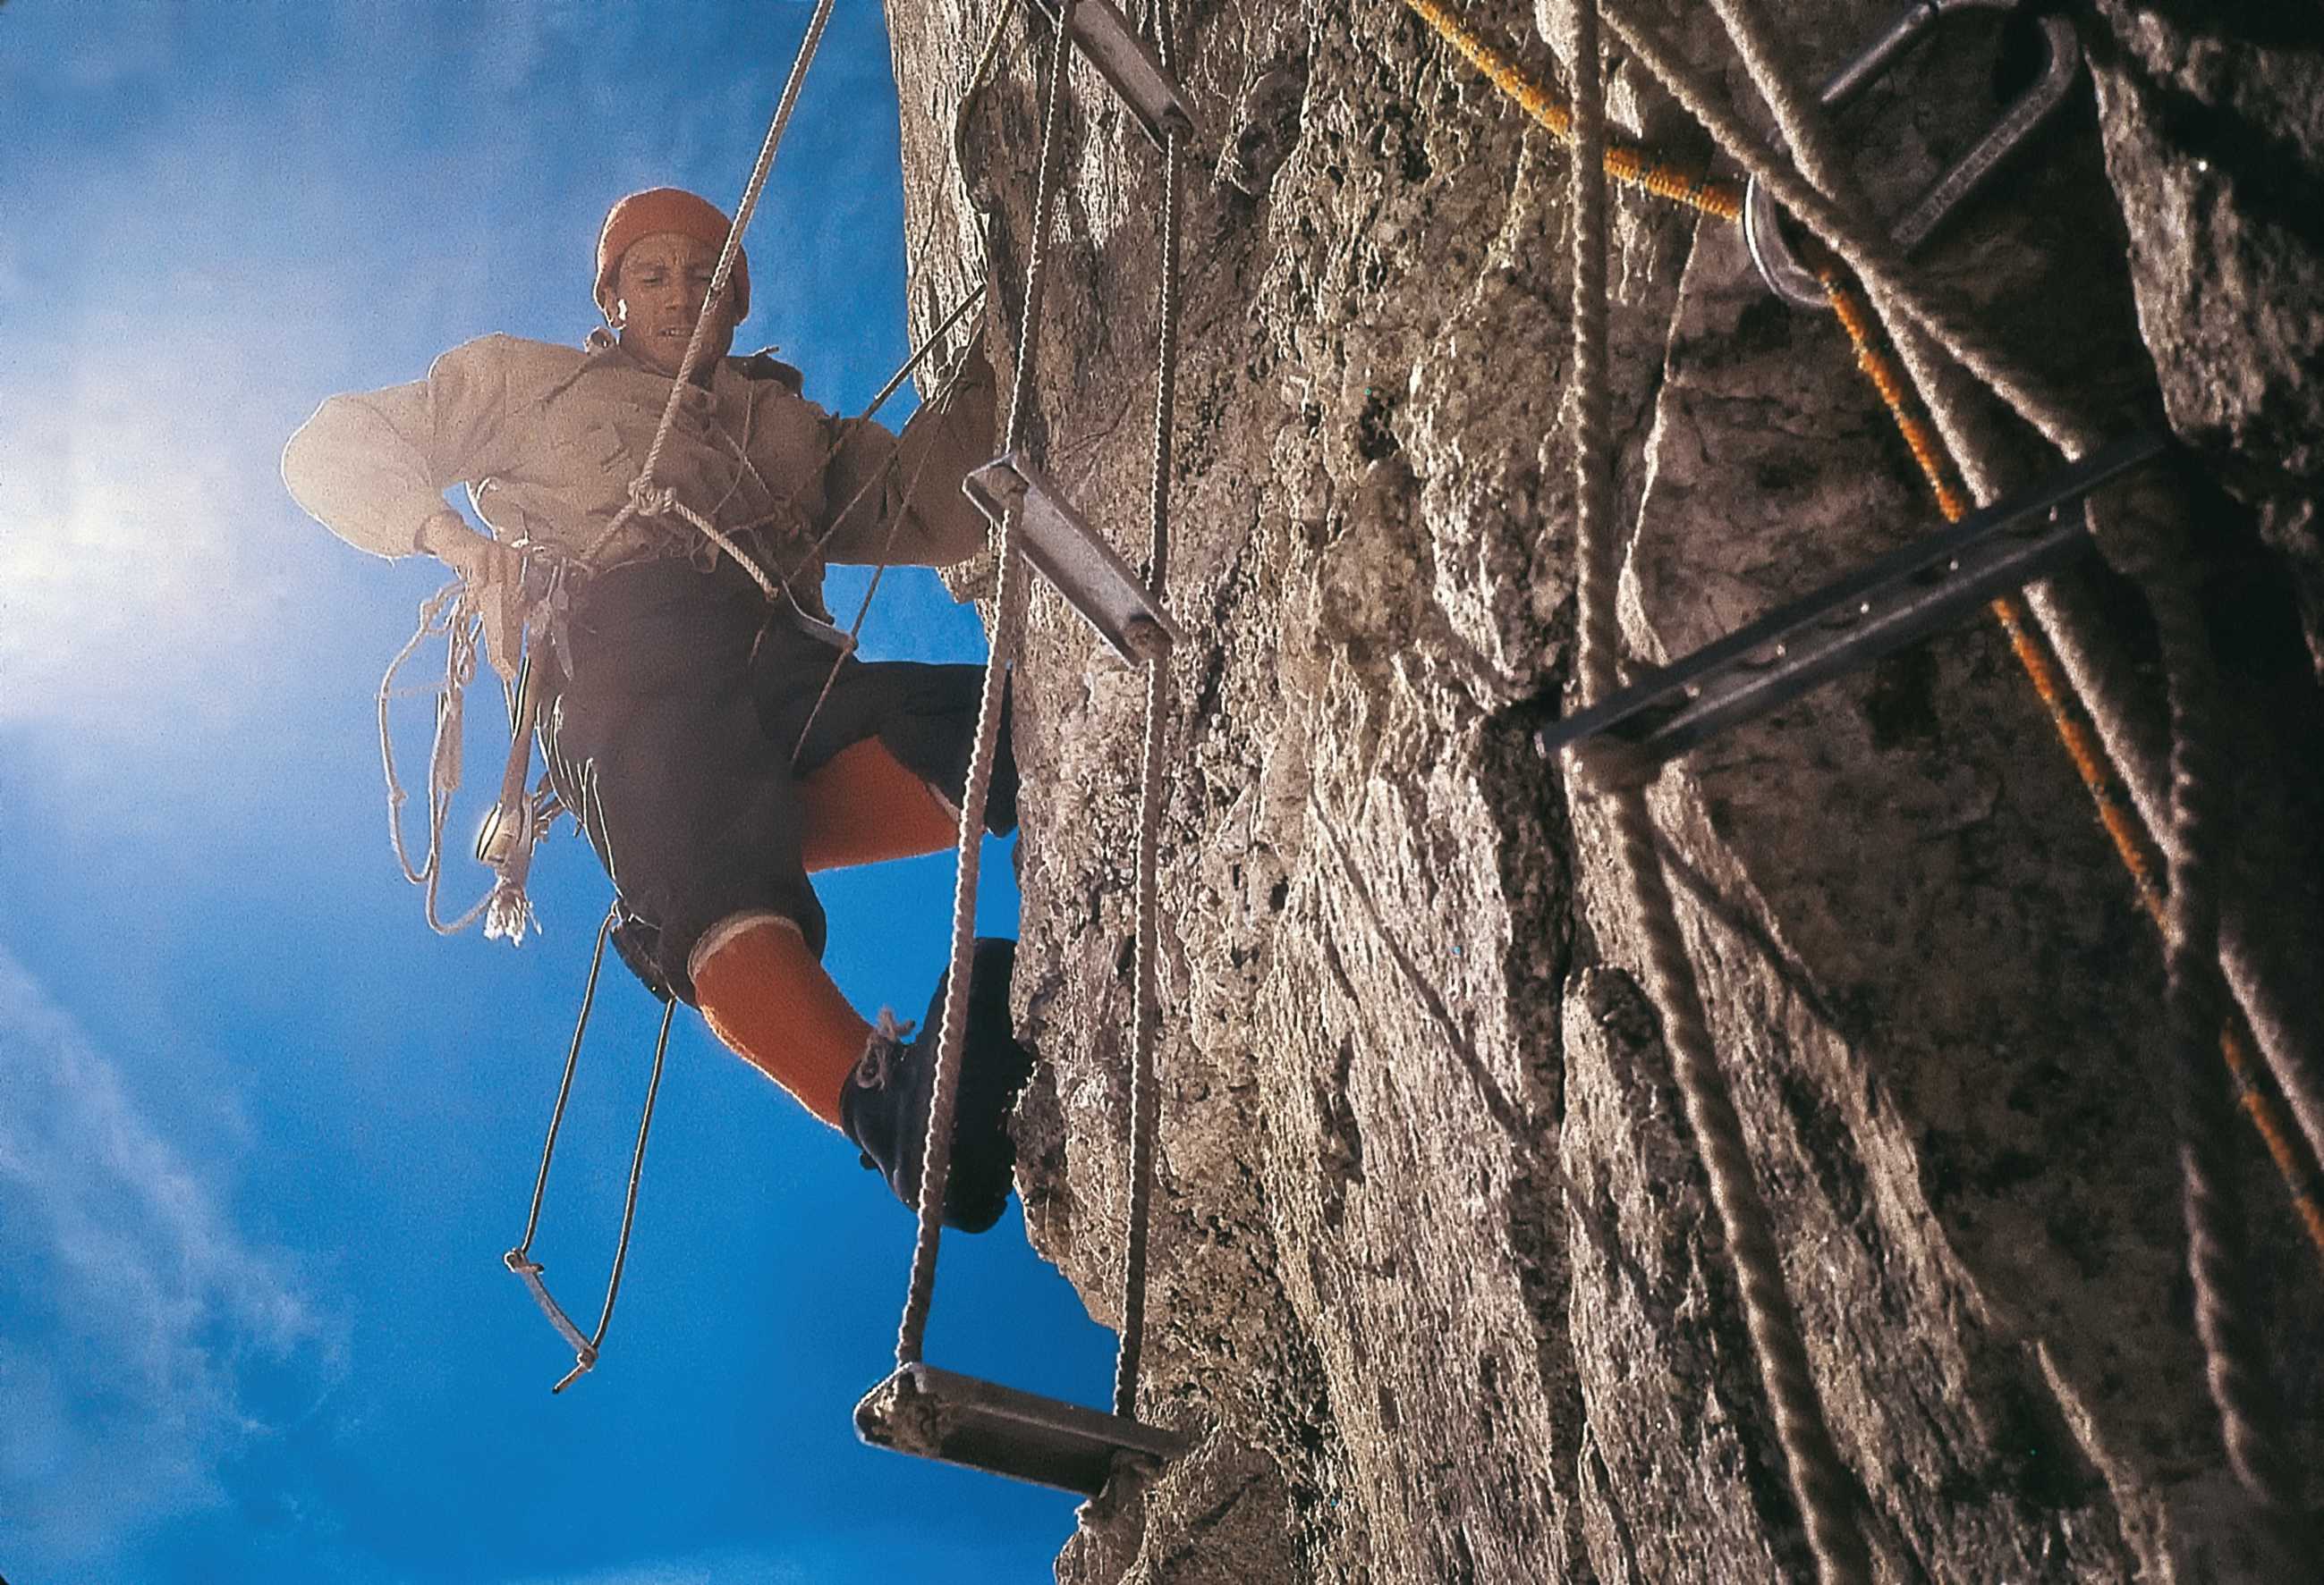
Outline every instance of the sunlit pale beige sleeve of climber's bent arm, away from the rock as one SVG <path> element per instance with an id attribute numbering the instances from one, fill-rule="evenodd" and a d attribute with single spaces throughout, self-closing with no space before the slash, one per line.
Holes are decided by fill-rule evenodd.
<path id="1" fill-rule="evenodd" d="M 284 446 L 284 486 L 372 555 L 409 555 L 453 483 L 507 472 L 509 337 L 451 349 L 428 379 L 325 400 Z"/>

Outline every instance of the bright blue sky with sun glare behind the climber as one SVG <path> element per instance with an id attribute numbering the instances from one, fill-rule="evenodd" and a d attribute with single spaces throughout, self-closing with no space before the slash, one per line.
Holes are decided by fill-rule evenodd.
<path id="1" fill-rule="evenodd" d="M 314 404 L 488 330 L 579 339 L 623 191 L 732 205 L 802 5 L 0 5 L 0 1576 L 1027 1580 L 1071 1499 L 860 1448 L 911 1222 L 681 1016 L 600 1369 L 500 1264 L 604 876 L 439 941 L 370 700 L 437 583 L 281 493 Z M 855 409 L 904 353 L 895 86 L 841 0 L 748 237 L 753 318 Z M 895 414 L 897 418 L 902 411 Z M 853 609 L 855 574 L 832 581 Z M 890 658 L 983 634 L 890 574 Z M 421 662 L 425 665 L 425 660 Z M 402 704 L 407 781 L 425 700 Z M 490 795 L 479 693 L 469 802 Z M 1009 930 L 1006 862 L 988 927 Z M 456 865 L 446 902 L 483 874 Z M 918 1016 L 951 860 L 825 878 L 832 969 Z M 590 1311 L 655 1006 L 618 971 L 535 1253 Z M 1111 1334 L 1009 1220 L 930 1357 L 1102 1404 Z"/>

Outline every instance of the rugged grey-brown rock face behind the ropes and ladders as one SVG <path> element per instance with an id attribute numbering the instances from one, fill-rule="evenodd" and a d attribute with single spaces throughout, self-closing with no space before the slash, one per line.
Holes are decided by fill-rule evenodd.
<path id="1" fill-rule="evenodd" d="M 2238 874 L 2312 1016 L 2324 820 L 2289 772 L 2324 762 L 2324 67 L 2291 9 L 2082 16 L 2096 95 L 1920 263 L 2092 423 L 2168 414 L 2224 486 L 2199 553 L 2238 700 Z M 1060 1580 L 1806 1578 L 1606 830 L 1532 748 L 1571 704 L 1564 151 L 1394 0 L 1171 12 L 1202 130 L 1143 1411 L 1197 1448 L 1092 1518 Z M 1469 21 L 1557 79 L 1562 7 L 1541 12 Z M 1813 74 L 1885 16 L 1796 0 L 1785 26 Z M 1006 383 L 1048 26 L 925 0 L 890 28 L 916 323 L 990 270 Z M 1678 37 L 1764 125 L 1715 23 L 1690 7 Z M 1943 37 L 1843 121 L 1875 202 L 1966 146 L 1994 60 L 2022 77 L 2015 30 Z M 1636 63 L 1615 88 L 1634 132 L 1710 158 Z M 1060 135 L 1027 435 L 1136 560 L 1160 156 L 1088 65 Z M 1936 523 L 1838 325 L 1769 297 L 1731 225 L 1618 195 L 1613 246 L 1638 662 Z M 2015 483 L 2054 462 L 1980 423 Z M 2136 590 L 2092 567 L 2059 597 L 2159 711 Z M 1102 1320 L 1141 711 L 1141 676 L 1037 590 L 1020 1188 Z M 2159 944 L 1994 625 L 1715 739 L 1652 802 L 1880 1578 L 2294 1578 L 2254 1559 L 2203 1390 Z M 2257 1136 L 2236 1143 L 2252 1304 L 2312 1466 L 2324 1271 Z"/>

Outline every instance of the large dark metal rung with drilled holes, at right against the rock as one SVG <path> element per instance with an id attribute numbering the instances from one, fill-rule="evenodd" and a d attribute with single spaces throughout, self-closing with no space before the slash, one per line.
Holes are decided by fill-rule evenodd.
<path id="1" fill-rule="evenodd" d="M 1722 727 L 1752 720 L 1822 681 L 1866 667 L 1968 609 L 2022 588 L 2089 548 L 2082 497 L 2168 449 L 2131 435 L 1994 502 L 1941 535 L 1892 551 L 1838 583 L 1776 607 L 1724 639 L 1536 734 L 1543 755 L 1592 737 L 1652 767 Z"/>

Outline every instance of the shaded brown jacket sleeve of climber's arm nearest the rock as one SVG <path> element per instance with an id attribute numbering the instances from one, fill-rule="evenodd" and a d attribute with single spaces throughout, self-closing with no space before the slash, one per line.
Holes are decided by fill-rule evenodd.
<path id="1" fill-rule="evenodd" d="M 832 532 L 827 560 L 951 567 L 985 548 L 985 516 L 960 493 L 960 479 L 992 460 L 990 381 L 962 386 L 944 409 L 923 407 L 902 437 L 862 418 L 834 418 L 832 439 L 837 451 L 823 495 L 827 511 L 846 511 L 846 521 Z M 916 474 L 920 488 L 911 490 Z M 848 511 L 858 490 L 862 500 Z M 906 490 L 911 511 L 904 511 Z"/>

